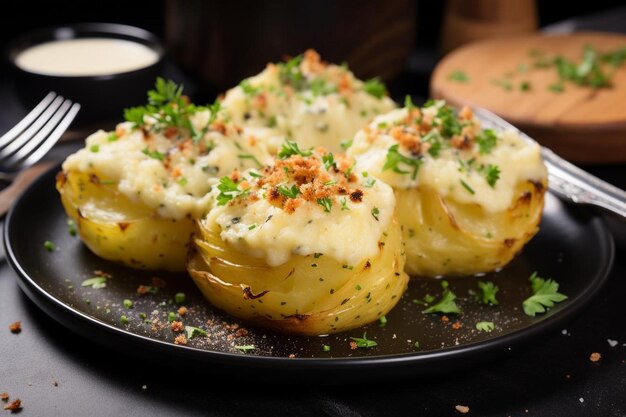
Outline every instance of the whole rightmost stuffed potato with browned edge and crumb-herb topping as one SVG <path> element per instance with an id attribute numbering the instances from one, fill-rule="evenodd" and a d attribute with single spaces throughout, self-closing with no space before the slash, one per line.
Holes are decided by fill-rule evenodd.
<path id="1" fill-rule="evenodd" d="M 348 155 L 394 187 L 412 275 L 470 275 L 506 265 L 535 235 L 547 171 L 540 147 L 483 130 L 443 101 L 376 118 Z"/>

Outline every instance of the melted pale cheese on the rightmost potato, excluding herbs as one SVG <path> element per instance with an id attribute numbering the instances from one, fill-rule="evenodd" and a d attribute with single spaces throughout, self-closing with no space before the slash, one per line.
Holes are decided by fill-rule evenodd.
<path id="1" fill-rule="evenodd" d="M 442 103 L 423 109 L 421 120 L 429 123 L 435 120 Z M 409 110 L 397 109 L 377 117 L 367 128 L 359 131 L 348 149 L 348 155 L 356 158 L 358 171 L 368 171 L 396 189 L 432 187 L 445 198 L 453 198 L 462 203 L 475 203 L 489 212 L 506 210 L 515 197 L 516 185 L 522 181 L 542 181 L 547 171 L 541 159 L 541 149 L 535 142 L 522 139 L 514 131 L 496 132 L 496 145 L 490 152 L 481 153 L 479 146 L 470 142 L 466 147 L 446 145 L 437 156 L 427 150 L 419 156 L 412 154 L 405 145 L 399 143 L 391 134 L 393 127 L 411 131 Z M 477 134 L 479 125 L 476 120 L 469 120 L 471 134 Z M 413 133 L 423 138 L 431 131 Z M 419 139 L 418 139 L 419 142 Z M 445 142 L 445 141 L 444 141 Z M 399 173 L 392 168 L 385 168 L 388 153 L 392 146 L 398 145 L 401 155 L 421 159 L 417 175 L 413 178 L 413 167 L 400 163 Z M 424 146 L 424 142 L 421 143 Z M 430 146 L 426 146 L 426 149 Z M 432 149 L 432 148 L 431 148 Z M 493 186 L 487 180 L 485 167 L 497 167 L 499 178 Z"/>

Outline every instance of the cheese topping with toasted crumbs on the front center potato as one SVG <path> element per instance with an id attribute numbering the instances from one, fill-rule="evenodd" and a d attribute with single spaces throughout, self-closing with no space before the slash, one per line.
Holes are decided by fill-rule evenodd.
<path id="1" fill-rule="evenodd" d="M 297 173 L 281 176 L 287 171 L 285 167 L 312 159 L 318 161 L 313 161 L 314 179 L 302 179 Z M 292 255 L 321 253 L 349 268 L 374 256 L 394 214 L 393 190 L 381 181 L 372 183 L 360 174 L 350 174 L 345 168 L 326 170 L 319 162 L 319 155 L 296 156 L 284 163 L 277 161 L 261 173 L 261 178 L 254 176 L 258 175 L 255 171 L 252 175 L 250 171 L 243 173 L 240 184 L 249 190 L 246 195 L 214 205 L 202 221 L 216 223 L 225 242 L 265 259 L 270 266 L 283 264 Z M 279 194 L 280 186 L 297 187 L 298 197 Z M 217 189 L 212 192 L 214 197 L 217 194 Z M 328 199 L 326 208 L 321 195 Z"/>

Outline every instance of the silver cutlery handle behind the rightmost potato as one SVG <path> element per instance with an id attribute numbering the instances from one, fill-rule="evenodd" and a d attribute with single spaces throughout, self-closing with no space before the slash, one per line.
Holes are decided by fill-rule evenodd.
<path id="1" fill-rule="evenodd" d="M 532 140 L 515 126 L 492 112 L 474 108 L 474 114 L 483 126 L 513 130 L 522 138 Z M 626 219 L 626 191 L 567 162 L 548 148 L 541 148 L 548 168 L 548 188 L 559 197 L 577 204 L 591 204 L 618 214 Z"/>

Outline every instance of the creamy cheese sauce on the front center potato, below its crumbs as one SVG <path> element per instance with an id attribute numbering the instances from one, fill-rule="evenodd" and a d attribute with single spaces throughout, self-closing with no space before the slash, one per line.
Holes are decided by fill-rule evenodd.
<path id="1" fill-rule="evenodd" d="M 243 177 L 251 178 L 249 173 Z M 288 212 L 261 197 L 214 205 L 203 222 L 217 223 L 222 240 L 242 253 L 265 259 L 270 266 L 281 265 L 292 255 L 321 253 L 349 267 L 378 253 L 378 242 L 394 215 L 391 187 L 382 181 L 361 186 L 366 180 L 356 175 L 355 184 L 363 191 L 361 201 L 337 197 L 328 212 L 315 201 Z M 253 192 L 266 193 L 267 186 Z M 217 190 L 212 194 L 216 196 Z"/>

